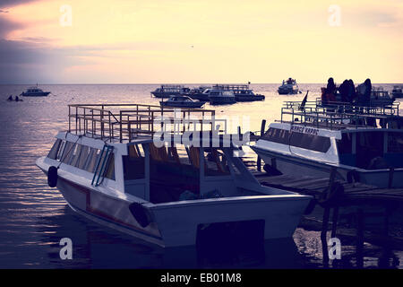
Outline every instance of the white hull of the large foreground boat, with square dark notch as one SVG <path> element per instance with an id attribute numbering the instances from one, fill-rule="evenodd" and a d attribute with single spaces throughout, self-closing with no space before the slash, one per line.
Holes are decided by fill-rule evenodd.
<path id="1" fill-rule="evenodd" d="M 43 160 L 39 159 L 37 165 L 47 174 Z M 130 212 L 133 201 L 107 195 L 97 187 L 77 184 L 62 175 L 57 188 L 75 212 L 161 247 L 195 245 L 198 230 L 217 222 L 263 221 L 264 239 L 290 238 L 311 200 L 311 196 L 287 194 L 142 204 L 150 218 L 150 224 L 143 228 Z"/>

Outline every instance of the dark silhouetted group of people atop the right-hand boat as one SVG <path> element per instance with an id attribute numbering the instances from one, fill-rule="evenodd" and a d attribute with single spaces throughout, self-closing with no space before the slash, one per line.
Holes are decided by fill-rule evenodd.
<path id="1" fill-rule="evenodd" d="M 326 88 L 322 88 L 322 103 L 344 102 L 364 106 L 370 102 L 372 90 L 370 79 L 366 79 L 357 87 L 353 80 L 349 79 L 337 87 L 333 78 L 329 78 Z"/>

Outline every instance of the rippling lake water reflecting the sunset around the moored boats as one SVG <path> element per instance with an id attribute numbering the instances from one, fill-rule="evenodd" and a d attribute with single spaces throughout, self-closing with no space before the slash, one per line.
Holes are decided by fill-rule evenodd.
<path id="1" fill-rule="evenodd" d="M 193 85 L 188 85 L 193 86 Z M 252 84 L 265 101 L 211 107 L 218 116 L 239 118 L 251 131 L 262 119 L 278 119 L 283 100 L 320 96 L 322 84 L 300 84 L 302 94 L 279 96 L 279 84 Z M 393 84 L 382 84 L 391 90 Z M 161 249 L 90 222 L 73 213 L 63 196 L 47 187 L 35 166 L 47 154 L 57 131 L 67 128 L 72 103 L 159 104 L 150 97 L 156 84 L 42 85 L 45 98 L 9 102 L 28 86 L 0 85 L 0 268 L 312 268 L 322 267 L 319 232 L 298 228 L 293 239 L 266 242 L 263 248 L 199 252 L 195 248 Z M 244 118 L 245 116 L 245 118 Z M 236 125 L 234 125 L 236 127 Z M 243 129 L 244 131 L 245 129 Z M 73 260 L 61 260 L 59 241 L 73 240 Z M 378 266 L 382 250 L 365 245 L 364 266 Z M 213 252 L 214 250 L 214 252 Z M 402 267 L 403 255 L 393 251 Z M 354 267 L 354 246 L 343 246 L 343 266 Z"/>

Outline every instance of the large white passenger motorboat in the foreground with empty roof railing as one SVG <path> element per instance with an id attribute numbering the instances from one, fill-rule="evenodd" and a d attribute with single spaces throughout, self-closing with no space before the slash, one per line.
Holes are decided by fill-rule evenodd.
<path id="1" fill-rule="evenodd" d="M 36 164 L 76 213 L 161 247 L 195 245 L 217 229 L 292 237 L 312 196 L 262 186 L 236 156 L 242 143 L 206 129 L 217 124 L 214 110 L 186 110 L 202 118 L 192 119 L 198 129 L 182 114 L 150 105 L 70 105 L 68 129 Z M 162 125 L 161 117 L 190 127 Z"/>

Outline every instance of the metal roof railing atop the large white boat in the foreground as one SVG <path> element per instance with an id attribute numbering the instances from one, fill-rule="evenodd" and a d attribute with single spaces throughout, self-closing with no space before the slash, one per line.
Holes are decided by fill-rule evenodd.
<path id="1" fill-rule="evenodd" d="M 69 133 L 110 143 L 130 143 L 161 131 L 183 135 L 185 131 L 214 130 L 219 135 L 227 135 L 227 120 L 216 118 L 213 109 L 143 104 L 72 104 L 68 108 Z"/>

